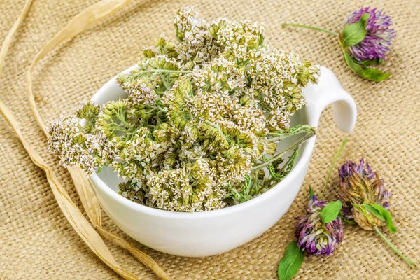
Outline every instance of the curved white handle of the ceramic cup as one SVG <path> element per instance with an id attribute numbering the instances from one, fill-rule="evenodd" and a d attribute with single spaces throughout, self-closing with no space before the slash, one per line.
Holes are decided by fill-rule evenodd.
<path id="1" fill-rule="evenodd" d="M 332 103 L 337 127 L 347 133 L 353 131 L 357 116 L 356 103 L 330 69 L 321 66 L 318 84 L 308 85 L 305 94 L 310 125 L 318 127 L 323 109 Z"/>

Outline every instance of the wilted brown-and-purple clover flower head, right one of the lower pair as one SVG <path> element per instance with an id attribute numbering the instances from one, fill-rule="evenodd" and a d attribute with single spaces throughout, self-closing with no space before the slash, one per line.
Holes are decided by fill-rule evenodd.
<path id="1" fill-rule="evenodd" d="M 347 160 L 339 169 L 340 190 L 339 200 L 342 201 L 342 214 L 346 220 L 355 220 L 360 227 L 372 230 L 374 225 L 381 225 L 381 221 L 371 217 L 369 221 L 363 218 L 358 208 L 353 204 L 363 203 L 379 204 L 388 209 L 388 199 L 391 193 L 384 188 L 384 180 L 373 172 L 370 165 L 362 158 L 359 164 Z M 374 223 L 374 224 L 372 224 Z"/>

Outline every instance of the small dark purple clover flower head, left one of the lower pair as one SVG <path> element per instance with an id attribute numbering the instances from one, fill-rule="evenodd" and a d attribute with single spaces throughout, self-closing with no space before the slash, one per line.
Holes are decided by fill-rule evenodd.
<path id="1" fill-rule="evenodd" d="M 327 204 L 314 195 L 309 200 L 307 215 L 296 218 L 297 246 L 308 255 L 331 255 L 344 239 L 341 218 L 322 223 L 321 211 Z"/>

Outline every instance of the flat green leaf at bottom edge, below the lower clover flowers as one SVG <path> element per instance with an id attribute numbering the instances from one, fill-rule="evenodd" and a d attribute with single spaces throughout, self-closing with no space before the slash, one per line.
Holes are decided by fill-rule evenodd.
<path id="1" fill-rule="evenodd" d="M 297 246 L 297 241 L 290 242 L 279 263 L 280 280 L 289 280 L 297 273 L 303 263 L 303 251 Z"/>

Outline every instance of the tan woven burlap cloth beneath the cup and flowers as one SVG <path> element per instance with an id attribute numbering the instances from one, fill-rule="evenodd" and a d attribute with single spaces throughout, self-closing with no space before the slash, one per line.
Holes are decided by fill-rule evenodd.
<path id="1" fill-rule="evenodd" d="M 31 116 L 25 71 L 59 29 L 94 0 L 35 0 L 18 31 L 0 80 L 1 99 L 15 114 L 25 137 L 51 165 L 45 137 Z M 24 1 L 0 1 L 0 39 L 20 13 Z M 207 20 L 228 17 L 265 22 L 269 45 L 293 50 L 332 69 L 356 99 L 358 122 L 339 163 L 364 156 L 393 193 L 391 212 L 398 232 L 386 234 L 400 251 L 420 261 L 420 5 L 405 1 L 134 1 L 100 25 L 64 43 L 34 73 L 34 92 L 44 119 L 69 113 L 90 99 L 109 78 L 131 66 L 141 50 L 162 33 L 174 39 L 173 17 L 193 5 Z M 381 83 L 362 80 L 344 64 L 337 38 L 307 29 L 282 28 L 283 22 L 342 29 L 346 15 L 361 6 L 384 9 L 395 22 L 393 52 L 381 70 L 392 77 Z M 323 112 L 304 186 L 274 227 L 233 251 L 210 258 L 180 258 L 146 248 L 119 230 L 110 218 L 105 227 L 123 235 L 151 255 L 174 279 L 276 279 L 276 268 L 294 237 L 294 217 L 304 213 L 309 185 L 320 191 L 328 167 L 346 135 Z M 44 173 L 38 169 L 6 121 L 0 118 L 0 279 L 118 279 L 78 237 L 59 210 Z M 80 201 L 65 169 L 59 179 L 72 199 Z M 335 197 L 337 172 L 328 197 Z M 264 217 L 261 217 L 264 218 Z M 329 258 L 307 258 L 296 279 L 419 279 L 376 235 L 346 225 L 344 242 Z M 384 229 L 385 230 L 385 229 Z M 109 242 L 107 243 L 109 244 Z M 155 279 L 123 249 L 109 244 L 120 265 L 140 279 Z"/>

